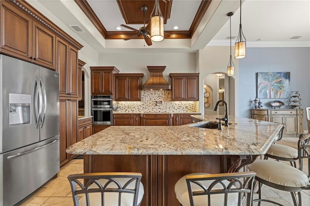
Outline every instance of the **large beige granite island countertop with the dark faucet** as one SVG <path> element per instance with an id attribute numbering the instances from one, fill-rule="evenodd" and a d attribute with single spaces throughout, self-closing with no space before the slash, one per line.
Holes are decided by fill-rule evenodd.
<path id="1" fill-rule="evenodd" d="M 215 121 L 217 117 L 206 118 Z M 193 127 L 203 121 L 182 126 L 111 126 L 66 151 L 114 155 L 260 155 L 266 153 L 282 127 L 273 122 L 229 118 L 232 124 L 223 126 L 223 130 Z"/>

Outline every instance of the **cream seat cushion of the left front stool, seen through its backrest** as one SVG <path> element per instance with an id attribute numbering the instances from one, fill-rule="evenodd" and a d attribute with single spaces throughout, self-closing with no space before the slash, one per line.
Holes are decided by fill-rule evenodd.
<path id="1" fill-rule="evenodd" d="M 115 178 L 119 183 L 121 183 L 122 186 L 129 180 L 129 178 Z M 102 185 L 104 185 L 108 180 L 107 179 L 99 179 L 98 182 L 100 182 Z M 116 186 L 115 184 L 110 183 L 111 186 Z M 89 188 L 97 188 L 98 186 L 95 184 L 92 184 Z M 135 188 L 135 182 L 131 182 L 128 187 L 128 189 L 134 189 Z M 105 194 L 105 205 L 106 206 L 117 206 L 118 205 L 118 192 L 106 192 Z M 144 188 L 142 182 L 140 182 L 139 186 L 139 193 L 138 193 L 138 205 L 141 204 L 142 198 L 144 195 Z M 90 205 L 91 206 L 101 206 L 101 194 L 100 193 L 90 193 Z M 133 194 L 123 193 L 122 194 L 122 206 L 132 206 L 133 202 Z M 82 196 L 82 206 L 86 206 L 86 198 L 85 194 Z"/>

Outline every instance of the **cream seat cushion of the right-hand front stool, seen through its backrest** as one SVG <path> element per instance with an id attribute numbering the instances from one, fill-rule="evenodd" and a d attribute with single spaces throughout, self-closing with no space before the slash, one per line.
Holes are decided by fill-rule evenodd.
<path id="1" fill-rule="evenodd" d="M 189 202 L 189 194 L 187 190 L 187 183 L 186 183 L 186 176 L 192 176 L 192 175 L 209 175 L 209 173 L 191 173 L 187 174 L 183 177 L 181 177 L 174 186 L 174 191 L 176 194 L 176 198 L 178 201 L 182 204 L 182 206 L 190 206 Z M 205 180 L 200 181 L 202 185 L 204 185 L 206 188 L 209 187 L 209 185 L 214 180 Z M 227 181 L 227 185 L 229 184 L 229 181 Z M 213 189 L 222 189 L 220 186 L 215 186 Z M 192 185 L 193 191 L 201 191 L 201 187 L 193 184 Z M 194 197 L 195 206 L 206 206 L 208 202 L 207 195 L 199 195 Z M 230 206 L 237 206 L 238 205 L 238 193 L 231 193 L 228 195 L 228 202 Z M 223 206 L 224 204 L 224 195 L 223 194 L 214 194 L 211 198 L 211 205 L 212 206 Z"/>

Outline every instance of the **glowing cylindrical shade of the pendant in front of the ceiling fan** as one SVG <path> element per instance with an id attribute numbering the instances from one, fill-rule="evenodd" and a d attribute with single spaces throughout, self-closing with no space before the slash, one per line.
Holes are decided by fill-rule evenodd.
<path id="1" fill-rule="evenodd" d="M 164 17 L 160 15 L 151 18 L 151 40 L 161 42 L 164 40 Z"/>

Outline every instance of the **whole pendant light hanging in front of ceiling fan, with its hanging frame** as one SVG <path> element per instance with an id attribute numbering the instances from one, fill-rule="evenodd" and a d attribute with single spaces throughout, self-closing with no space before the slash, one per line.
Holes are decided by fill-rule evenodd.
<path id="1" fill-rule="evenodd" d="M 155 0 L 151 14 L 151 40 L 153 42 L 164 40 L 164 17 L 161 15 L 159 0 Z"/>

